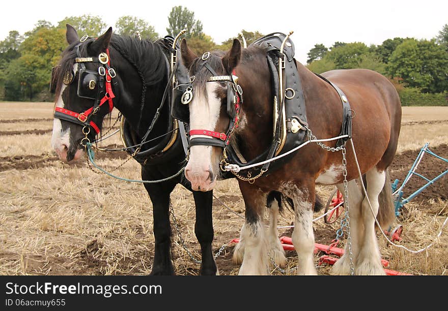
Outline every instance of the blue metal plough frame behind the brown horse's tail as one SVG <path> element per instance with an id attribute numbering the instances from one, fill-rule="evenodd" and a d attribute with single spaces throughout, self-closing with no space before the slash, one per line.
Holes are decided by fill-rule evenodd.
<path id="1" fill-rule="evenodd" d="M 433 155 L 434 157 L 448 163 L 447 159 L 442 158 L 439 155 L 432 152 L 431 150 L 429 150 L 428 145 L 429 145 L 429 143 L 426 143 L 422 147 L 422 149 L 420 149 L 420 152 L 418 153 L 417 158 L 414 161 L 414 164 L 412 165 L 411 169 L 409 170 L 409 173 L 407 174 L 407 176 L 404 179 L 403 184 L 400 186 L 400 188 L 397 189 L 398 179 L 395 179 L 394 183 L 392 184 L 392 191 L 394 192 L 394 196 L 395 196 L 395 215 L 396 216 L 398 216 L 400 214 L 400 209 L 403 207 L 403 205 L 405 205 L 406 203 L 411 201 L 413 198 L 415 198 L 419 193 L 421 193 L 423 190 L 425 190 L 429 185 L 433 184 L 437 179 L 440 179 L 446 173 L 448 173 L 448 169 L 447 169 L 444 172 L 442 172 L 440 175 L 436 176 L 435 178 L 429 179 L 429 178 L 426 178 L 425 176 L 415 172 L 418 164 L 422 161 L 423 155 L 425 155 L 425 153 L 429 153 L 429 154 Z M 417 175 L 418 177 L 425 179 L 427 181 L 427 183 L 424 186 L 422 186 L 422 188 L 418 189 L 413 194 L 411 194 L 409 197 L 403 199 L 403 188 L 406 185 L 406 183 L 409 181 L 409 179 L 412 177 L 412 175 Z"/>

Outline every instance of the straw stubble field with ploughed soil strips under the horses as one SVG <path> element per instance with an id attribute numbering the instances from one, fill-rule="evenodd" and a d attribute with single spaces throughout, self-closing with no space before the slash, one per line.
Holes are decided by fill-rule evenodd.
<path id="1" fill-rule="evenodd" d="M 152 206 L 143 186 L 95 174 L 85 159 L 67 164 L 51 149 L 51 103 L 0 103 L 0 274 L 148 274 L 154 255 Z M 448 157 L 448 107 L 404 107 L 398 154 L 391 176 L 402 181 L 419 148 L 430 142 L 433 151 Z M 118 135 L 104 142 L 120 145 Z M 97 154 L 98 164 L 113 169 L 127 159 L 125 152 Z M 435 176 L 446 163 L 425 156 L 419 172 Z M 117 171 L 139 179 L 139 165 L 127 162 Z M 421 186 L 411 179 L 406 193 Z M 326 201 L 332 187 L 319 186 Z M 214 200 L 215 252 L 239 236 L 244 204 L 236 180 L 218 182 L 214 194 L 235 213 Z M 403 241 L 412 250 L 434 243 L 427 251 L 412 254 L 388 245 L 379 236 L 383 258 L 389 268 L 412 274 L 448 274 L 448 234 L 437 238 L 448 215 L 447 178 L 405 205 L 394 226 L 403 225 Z M 197 258 L 200 247 L 194 236 L 194 203 L 188 191 L 177 186 L 172 202 L 182 237 Z M 315 216 L 322 212 L 315 213 Z M 291 225 L 289 210 L 279 226 Z M 316 242 L 328 244 L 337 224 L 314 224 Z M 279 230 L 291 236 L 291 229 Z M 234 245 L 217 258 L 221 274 L 234 275 Z M 181 247 L 173 228 L 173 261 L 177 274 L 198 274 L 195 264 Z M 316 264 L 319 255 L 315 256 Z M 295 252 L 287 252 L 288 267 L 296 264 Z M 274 267 L 272 274 L 281 274 Z M 318 266 L 329 274 L 329 267 Z"/>

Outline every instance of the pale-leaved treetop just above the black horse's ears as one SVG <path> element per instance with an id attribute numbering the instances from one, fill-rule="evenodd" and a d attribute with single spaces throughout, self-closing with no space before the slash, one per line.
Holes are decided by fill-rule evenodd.
<path id="1" fill-rule="evenodd" d="M 79 37 L 83 35 L 98 37 L 106 30 L 106 24 L 101 20 L 101 17 L 90 14 L 66 17 L 59 22 L 58 28 L 65 30 L 66 24 L 72 25 L 79 34 Z"/>

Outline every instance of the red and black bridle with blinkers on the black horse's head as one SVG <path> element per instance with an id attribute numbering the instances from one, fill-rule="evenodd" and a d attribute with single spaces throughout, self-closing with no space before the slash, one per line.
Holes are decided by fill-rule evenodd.
<path id="1" fill-rule="evenodd" d="M 84 126 L 82 132 L 90 132 L 92 128 L 96 134 L 100 132 L 99 127 L 96 125 L 91 118 L 98 112 L 101 106 L 107 102 L 109 105 L 109 112 L 114 109 L 113 99 L 115 98 L 114 92 L 112 91 L 112 86 L 110 82 L 116 77 L 116 72 L 113 68 L 110 68 L 110 57 L 109 50 L 106 52 L 101 52 L 98 57 L 81 57 L 79 50 L 82 42 L 87 39 L 93 40 L 93 38 L 88 38 L 87 36 L 82 37 L 79 43 L 76 45 L 76 58 L 75 63 L 79 64 L 81 69 L 79 70 L 78 78 L 78 89 L 77 95 L 80 98 L 87 98 L 94 100 L 93 107 L 87 109 L 83 112 L 74 112 L 65 108 L 55 107 L 54 117 L 62 120 L 66 120 L 78 125 Z M 98 71 L 91 71 L 86 69 L 85 63 L 100 63 Z M 52 75 L 55 70 L 53 69 Z M 74 74 L 66 73 L 64 76 L 64 84 L 69 85 L 73 82 Z M 53 77 L 51 77 L 51 81 Z M 84 140 L 84 139 L 83 139 Z"/>

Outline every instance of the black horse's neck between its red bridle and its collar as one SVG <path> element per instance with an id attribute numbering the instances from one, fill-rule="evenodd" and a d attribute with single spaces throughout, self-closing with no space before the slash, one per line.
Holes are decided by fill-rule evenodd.
<path id="1" fill-rule="evenodd" d="M 137 69 L 134 66 L 129 66 L 129 61 L 121 53 L 115 49 L 110 49 L 110 58 L 111 67 L 116 70 L 117 77 L 119 77 L 116 83 L 113 82 L 116 96 L 114 106 L 123 114 L 131 126 L 136 127 L 138 124 L 138 129 L 134 128 L 134 130 L 137 134 L 143 135 L 160 106 L 163 91 L 168 82 L 167 76 L 156 84 L 147 85 L 144 88 L 142 77 Z M 116 65 L 113 63 L 114 59 Z M 151 62 L 151 59 L 146 59 L 146 61 Z M 145 94 L 143 94 L 144 89 Z M 163 109 L 161 114 L 166 114 L 165 110 Z M 163 118 L 163 115 L 160 118 Z"/>

